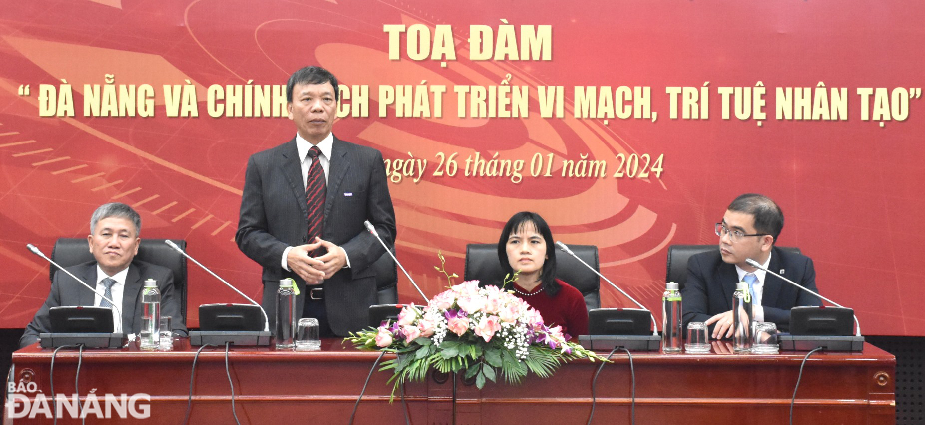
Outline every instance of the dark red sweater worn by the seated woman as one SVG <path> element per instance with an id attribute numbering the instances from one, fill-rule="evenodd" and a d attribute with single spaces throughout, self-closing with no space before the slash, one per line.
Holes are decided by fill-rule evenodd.
<path id="1" fill-rule="evenodd" d="M 555 297 L 549 297 L 549 294 L 542 290 L 543 285 L 536 285 L 532 291 L 527 291 L 514 282 L 513 287 L 516 289 L 514 297 L 524 299 L 530 307 L 539 311 L 539 314 L 543 316 L 543 323 L 547 326 L 550 328 L 561 326 L 562 334 L 572 335 L 571 341 L 577 342 L 578 335 L 587 334 L 585 297 L 573 285 L 566 284 L 559 279 L 556 279 L 556 282 L 562 287 Z"/>

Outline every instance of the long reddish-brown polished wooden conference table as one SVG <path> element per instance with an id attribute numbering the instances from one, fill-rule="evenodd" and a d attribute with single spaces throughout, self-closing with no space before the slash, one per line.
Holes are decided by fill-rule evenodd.
<path id="1" fill-rule="evenodd" d="M 724 344 L 724 343 L 714 343 Z M 150 395 L 150 419 L 96 419 L 88 423 L 182 423 L 190 393 L 190 372 L 197 347 L 186 339 L 174 350 L 146 352 L 137 343 L 117 350 L 85 350 L 80 366 L 80 396 Z M 787 423 L 790 398 L 806 352 L 778 355 L 725 355 L 714 346 L 705 355 L 637 352 L 636 423 Z M 50 393 L 51 349 L 37 345 L 13 353 L 14 383 L 35 383 Z M 378 352 L 324 340 L 320 351 L 277 351 L 270 347 L 231 348 L 228 369 L 241 423 L 349 422 L 353 405 Z M 78 352 L 56 356 L 55 392 L 73 395 Z M 631 374 L 625 353 L 614 354 L 597 381 L 593 423 L 629 423 Z M 475 385 L 456 382 L 456 422 L 460 424 L 586 423 L 591 412 L 591 383 L 599 362 L 573 361 L 549 379 L 530 375 L 524 382 Z M 893 355 L 864 345 L 862 352 L 818 352 L 808 359 L 796 394 L 794 423 L 894 423 Z M 401 398 L 388 398 L 390 371 L 373 372 L 355 423 L 404 423 Z M 409 383 L 405 402 L 412 423 L 449 424 L 453 380 Z M 234 423 L 225 349 L 205 348 L 192 389 L 192 424 Z M 34 397 L 35 392 L 23 393 Z M 51 423 L 51 419 L 15 419 L 13 423 Z M 153 420 L 154 419 L 154 420 Z M 10 419 L 6 418 L 8 422 Z M 59 419 L 58 423 L 79 423 Z"/>

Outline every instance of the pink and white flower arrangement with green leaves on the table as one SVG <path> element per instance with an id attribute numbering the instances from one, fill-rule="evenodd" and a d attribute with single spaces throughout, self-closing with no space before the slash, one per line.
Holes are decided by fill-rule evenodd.
<path id="1" fill-rule="evenodd" d="M 443 262 L 443 256 L 439 255 Z M 455 273 L 447 274 L 450 285 Z M 506 276 L 502 287 L 516 280 Z M 409 379 L 422 381 L 428 370 L 464 371 L 482 388 L 495 382 L 500 371 L 508 383 L 520 383 L 527 372 L 542 378 L 564 360 L 590 358 L 606 361 L 569 341 L 561 326 L 549 328 L 539 312 L 523 299 L 498 286 L 479 287 L 478 281 L 451 285 L 427 302 L 425 308 L 404 307 L 398 322 L 383 322 L 377 329 L 360 331 L 344 339 L 360 348 L 396 354 L 381 370 L 394 370 L 392 395 Z"/>

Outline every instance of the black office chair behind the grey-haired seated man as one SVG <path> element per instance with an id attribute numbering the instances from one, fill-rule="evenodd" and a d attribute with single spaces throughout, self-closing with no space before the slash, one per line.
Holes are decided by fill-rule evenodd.
<path id="1" fill-rule="evenodd" d="M 186 240 L 170 240 L 173 240 L 179 248 L 184 251 L 186 250 Z M 184 318 L 188 317 L 186 314 L 186 257 L 170 248 L 164 243 L 164 239 L 142 239 L 142 244 L 138 248 L 138 255 L 136 255 L 135 258 L 164 266 L 174 273 L 174 290 L 179 293 L 180 312 L 183 313 Z M 80 264 L 81 262 L 93 261 L 94 259 L 87 245 L 86 238 L 75 239 L 62 237 L 55 243 L 55 250 L 52 251 L 52 260 L 61 264 L 63 267 L 70 267 Z M 54 265 L 50 267 L 48 279 L 54 280 L 57 267 Z"/>

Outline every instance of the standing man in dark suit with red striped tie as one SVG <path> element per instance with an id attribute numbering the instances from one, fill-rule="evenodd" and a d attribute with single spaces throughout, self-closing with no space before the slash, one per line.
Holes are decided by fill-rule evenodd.
<path id="1" fill-rule="evenodd" d="M 264 268 L 263 306 L 276 317 L 279 280 L 299 289 L 295 317 L 313 317 L 322 336 L 346 336 L 369 325 L 376 304 L 370 267 L 385 249 L 366 231 L 395 240 L 395 211 L 382 154 L 340 140 L 338 80 L 323 67 L 303 67 L 286 84 L 295 137 L 251 156 L 244 176 L 235 241 Z"/>

